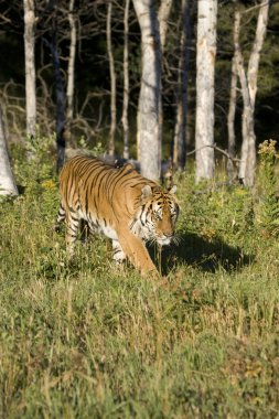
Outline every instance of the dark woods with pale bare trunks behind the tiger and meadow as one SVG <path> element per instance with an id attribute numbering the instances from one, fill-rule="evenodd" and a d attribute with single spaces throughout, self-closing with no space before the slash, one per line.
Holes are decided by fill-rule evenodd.
<path id="1" fill-rule="evenodd" d="M 143 168 L 158 161 L 149 178 L 158 178 L 160 161 L 170 158 L 174 169 L 184 170 L 195 149 L 197 181 L 214 175 L 217 144 L 228 150 L 230 163 L 240 158 L 240 166 L 228 164 L 229 176 L 251 185 L 257 144 L 278 132 L 279 6 L 149 0 L 142 24 L 137 3 L 143 4 L 1 2 L 8 143 L 55 132 L 61 166 L 65 148 L 78 147 L 81 139 L 89 148 L 100 142 L 110 154 L 124 155 L 125 149 Z M 143 28 L 154 36 L 146 56 Z M 152 54 L 159 61 L 148 67 Z"/>

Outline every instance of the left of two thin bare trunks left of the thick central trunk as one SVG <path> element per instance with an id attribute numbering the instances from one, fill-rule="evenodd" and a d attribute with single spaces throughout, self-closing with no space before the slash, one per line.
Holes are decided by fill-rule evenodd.
<path id="1" fill-rule="evenodd" d="M 109 155 L 115 154 L 115 132 L 116 132 L 116 71 L 115 71 L 115 60 L 112 54 L 112 43 L 111 43 L 111 13 L 112 13 L 112 2 L 108 3 L 107 10 L 107 53 L 109 61 L 109 75 L 110 75 L 110 138 L 108 143 Z"/>

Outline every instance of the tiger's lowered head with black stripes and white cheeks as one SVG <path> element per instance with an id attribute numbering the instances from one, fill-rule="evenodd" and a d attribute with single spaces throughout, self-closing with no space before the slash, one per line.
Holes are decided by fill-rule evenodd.
<path id="1" fill-rule="evenodd" d="M 175 193 L 175 185 L 168 192 L 160 187 L 152 191 L 149 184 L 144 185 L 132 223 L 133 233 L 144 240 L 157 241 L 161 246 L 170 245 L 180 212 Z"/>

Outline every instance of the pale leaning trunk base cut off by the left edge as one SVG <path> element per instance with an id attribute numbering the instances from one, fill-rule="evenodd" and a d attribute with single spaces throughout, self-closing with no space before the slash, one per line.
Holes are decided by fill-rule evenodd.
<path id="1" fill-rule="evenodd" d="M 6 146 L 2 110 L 0 107 L 0 195 L 18 195 Z"/>

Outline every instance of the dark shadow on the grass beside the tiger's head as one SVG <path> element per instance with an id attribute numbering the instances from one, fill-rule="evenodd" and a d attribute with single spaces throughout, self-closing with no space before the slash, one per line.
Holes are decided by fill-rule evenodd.
<path id="1" fill-rule="evenodd" d="M 157 258 L 154 248 L 150 248 L 150 254 Z M 162 275 L 168 275 L 180 264 L 207 272 L 215 272 L 221 267 L 233 271 L 249 265 L 254 258 L 254 255 L 246 255 L 240 247 L 229 246 L 221 238 L 207 241 L 194 233 L 186 233 L 180 236 L 179 245 L 173 244 L 162 249 Z"/>

